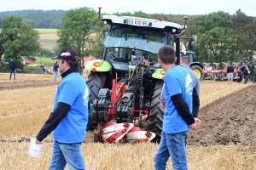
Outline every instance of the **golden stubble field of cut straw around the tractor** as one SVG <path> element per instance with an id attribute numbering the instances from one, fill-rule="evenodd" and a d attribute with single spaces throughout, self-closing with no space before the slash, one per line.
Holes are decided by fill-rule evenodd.
<path id="1" fill-rule="evenodd" d="M 53 81 L 54 77 L 44 75 L 17 74 L 18 80 L 3 80 L 8 74 L 0 74 L 1 84 L 33 80 Z M 59 77 L 58 82 L 61 79 Z M 57 82 L 57 83 L 58 83 Z M 41 157 L 27 156 L 29 139 L 35 137 L 52 111 L 56 84 L 37 88 L 2 90 L 0 99 L 0 169 L 47 169 L 51 156 L 52 136 L 44 141 Z M 201 107 L 228 94 L 236 94 L 248 85 L 226 82 L 201 82 Z M 154 154 L 158 144 L 96 144 L 93 133 L 87 133 L 82 144 L 84 163 L 90 170 L 148 170 L 154 169 Z M 253 170 L 256 169 L 255 151 L 248 146 L 213 145 L 208 147 L 188 146 L 189 169 L 197 170 Z M 67 169 L 67 167 L 66 167 Z M 171 161 L 167 169 L 172 169 Z"/>

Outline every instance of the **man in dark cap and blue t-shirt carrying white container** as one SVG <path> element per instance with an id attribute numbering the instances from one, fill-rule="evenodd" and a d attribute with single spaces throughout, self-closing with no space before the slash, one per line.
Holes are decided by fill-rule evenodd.
<path id="1" fill-rule="evenodd" d="M 88 123 L 90 88 L 79 74 L 79 55 L 65 48 L 52 59 L 58 59 L 62 81 L 55 94 L 55 104 L 49 119 L 36 137 L 36 144 L 53 132 L 53 154 L 49 169 L 85 169 L 81 143 Z"/>

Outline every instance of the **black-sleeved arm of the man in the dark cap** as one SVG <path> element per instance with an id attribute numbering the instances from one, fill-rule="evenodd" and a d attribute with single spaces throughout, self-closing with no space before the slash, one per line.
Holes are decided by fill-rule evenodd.
<path id="1" fill-rule="evenodd" d="M 50 115 L 48 120 L 44 123 L 44 126 L 41 128 L 40 132 L 37 135 L 38 141 L 43 141 L 49 133 L 51 133 L 55 127 L 59 125 L 61 120 L 67 116 L 67 112 L 70 110 L 70 105 L 66 103 L 59 102 L 55 111 L 53 111 Z"/>

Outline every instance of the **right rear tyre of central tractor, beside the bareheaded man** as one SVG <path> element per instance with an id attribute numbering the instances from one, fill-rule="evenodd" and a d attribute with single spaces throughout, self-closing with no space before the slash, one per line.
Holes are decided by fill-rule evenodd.
<path id="1" fill-rule="evenodd" d="M 160 94 L 163 88 L 163 81 L 155 82 L 154 86 L 154 94 L 152 96 L 152 102 L 149 113 L 149 131 L 156 134 L 153 139 L 154 142 L 160 142 L 161 132 L 162 132 L 162 124 L 164 119 L 164 108 L 160 105 Z"/>

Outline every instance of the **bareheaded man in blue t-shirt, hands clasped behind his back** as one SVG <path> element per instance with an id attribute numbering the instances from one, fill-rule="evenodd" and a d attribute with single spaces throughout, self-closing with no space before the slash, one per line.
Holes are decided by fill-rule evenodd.
<path id="1" fill-rule="evenodd" d="M 154 169 L 166 169 L 171 156 L 173 169 L 188 169 L 185 138 L 191 129 L 197 129 L 201 121 L 192 116 L 193 95 L 197 95 L 189 72 L 175 65 L 176 52 L 172 46 L 164 46 L 158 52 L 158 62 L 166 71 L 164 78 L 166 110 L 159 149 L 154 156 Z"/>

